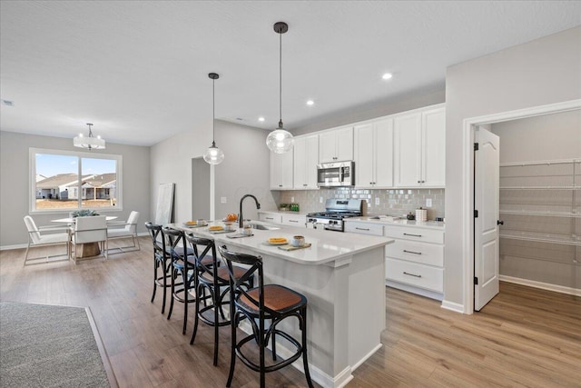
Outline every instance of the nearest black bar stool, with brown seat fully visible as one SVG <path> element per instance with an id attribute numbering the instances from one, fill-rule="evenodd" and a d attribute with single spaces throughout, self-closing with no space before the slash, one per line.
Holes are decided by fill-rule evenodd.
<path id="1" fill-rule="evenodd" d="M 218 247 L 220 254 L 226 260 L 228 274 L 230 277 L 230 293 L 235 295 L 231 298 L 231 363 L 228 375 L 227 387 L 230 387 L 234 375 L 236 358 L 251 368 L 251 370 L 261 373 L 261 388 L 265 386 L 265 373 L 277 371 L 291 363 L 294 363 L 302 355 L 302 362 L 305 370 L 305 377 L 309 387 L 310 381 L 309 363 L 307 360 L 307 298 L 290 288 L 279 284 L 264 284 L 261 256 L 250 254 L 238 254 L 228 250 L 226 245 Z M 240 277 L 236 277 L 233 272 L 233 265 L 244 264 L 250 268 Z M 256 288 L 245 289 L 243 282 L 248 281 L 252 274 L 258 274 L 258 284 Z M 289 333 L 285 333 L 277 328 L 283 320 L 296 317 L 299 321 L 301 331 L 301 341 L 299 342 Z M 236 328 L 241 319 L 247 318 L 251 323 L 252 333 L 237 341 Z M 265 321 L 270 320 L 271 325 L 265 328 Z M 275 335 L 281 335 L 295 347 L 295 353 L 289 358 L 277 361 Z M 266 365 L 264 352 L 269 339 L 272 337 L 272 360 L 276 363 Z M 259 363 L 253 362 L 248 354 L 242 349 L 245 343 L 255 341 L 259 346 Z"/>

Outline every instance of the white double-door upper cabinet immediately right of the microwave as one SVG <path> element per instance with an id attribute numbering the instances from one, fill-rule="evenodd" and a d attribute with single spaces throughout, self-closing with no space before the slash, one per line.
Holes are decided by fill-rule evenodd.
<path id="1" fill-rule="evenodd" d="M 383 119 L 354 128 L 355 185 L 393 186 L 393 120 Z"/>

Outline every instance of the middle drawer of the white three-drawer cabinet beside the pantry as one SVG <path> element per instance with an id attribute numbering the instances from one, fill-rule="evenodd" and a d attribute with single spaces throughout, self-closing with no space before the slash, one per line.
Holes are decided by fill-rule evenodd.
<path id="1" fill-rule="evenodd" d="M 396 240 L 386 245 L 386 256 L 420 264 L 444 266 L 444 245 Z"/>

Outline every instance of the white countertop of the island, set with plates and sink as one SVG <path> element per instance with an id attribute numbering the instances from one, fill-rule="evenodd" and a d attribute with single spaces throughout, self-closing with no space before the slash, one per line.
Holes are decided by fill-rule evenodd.
<path id="1" fill-rule="evenodd" d="M 264 224 L 256 221 L 252 223 Z M 256 254 L 275 256 L 298 264 L 327 264 L 394 242 L 389 237 L 358 234 L 354 238 L 353 234 L 278 224 L 271 224 L 271 226 L 280 227 L 281 229 L 269 231 L 252 229 L 254 235 L 241 238 L 229 238 L 228 233 L 211 234 L 208 231 L 208 227 L 188 228 L 183 224 L 172 224 L 170 226 L 182 229 L 187 233 L 212 238 L 216 244 L 226 244 L 229 249 L 232 249 L 232 246 L 240 246 L 250 249 Z M 293 235 L 304 236 L 305 243 L 311 244 L 311 246 L 295 251 L 283 251 L 276 245 L 268 244 L 268 240 L 271 237 L 285 237 L 290 242 Z M 346 238 L 347 236 L 349 238 Z"/>

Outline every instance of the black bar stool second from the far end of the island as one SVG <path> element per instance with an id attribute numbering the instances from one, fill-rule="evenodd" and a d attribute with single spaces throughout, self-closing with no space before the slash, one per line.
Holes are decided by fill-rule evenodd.
<path id="1" fill-rule="evenodd" d="M 169 249 L 172 258 L 172 300 L 170 302 L 170 311 L 167 313 L 167 319 L 172 317 L 173 301 L 183 303 L 183 329 L 185 334 L 188 325 L 188 304 L 195 303 L 196 311 L 200 299 L 210 298 L 209 295 L 192 295 L 190 289 L 196 290 L 196 259 L 192 248 L 186 244 L 185 233 L 181 230 L 163 228 L 163 234 L 166 238 L 166 248 Z M 202 262 L 211 265 L 212 256 L 205 257 Z M 181 283 L 176 282 L 177 277 L 182 278 Z M 193 287 L 192 287 L 193 285 Z M 200 297 L 199 297 L 200 296 Z M 197 314 L 196 314 L 197 316 Z"/>

